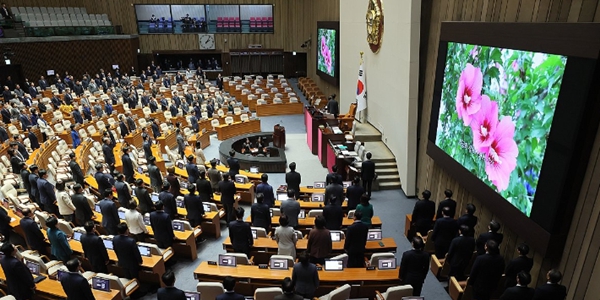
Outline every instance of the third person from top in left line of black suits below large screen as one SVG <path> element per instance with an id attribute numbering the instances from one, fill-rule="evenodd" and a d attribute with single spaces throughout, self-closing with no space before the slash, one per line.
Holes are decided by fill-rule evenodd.
<path id="1" fill-rule="evenodd" d="M 465 280 L 465 269 L 471 262 L 473 251 L 475 251 L 475 239 L 468 236 L 471 229 L 467 225 L 460 225 L 460 235 L 455 237 L 450 243 L 450 250 L 446 255 L 446 260 L 450 262 L 450 274 L 458 281 Z"/>

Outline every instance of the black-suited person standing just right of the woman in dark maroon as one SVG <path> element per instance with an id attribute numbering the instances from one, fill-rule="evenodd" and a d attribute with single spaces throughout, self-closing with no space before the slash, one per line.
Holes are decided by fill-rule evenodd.
<path id="1" fill-rule="evenodd" d="M 361 221 L 362 212 L 354 213 L 354 223 L 346 231 L 344 250 L 348 253 L 348 268 L 363 268 L 365 266 L 365 245 L 369 226 Z"/>

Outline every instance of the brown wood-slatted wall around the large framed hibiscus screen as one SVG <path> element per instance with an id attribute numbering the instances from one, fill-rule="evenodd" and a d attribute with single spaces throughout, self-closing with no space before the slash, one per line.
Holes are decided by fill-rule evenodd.
<path id="1" fill-rule="evenodd" d="M 461 210 L 468 203 L 477 206 L 476 215 L 480 222 L 475 228 L 477 234 L 487 230 L 487 223 L 494 219 L 492 211 L 473 197 L 468 190 L 450 177 L 427 154 L 427 135 L 433 98 L 436 59 L 443 21 L 484 21 L 484 22 L 599 22 L 600 0 L 477 0 L 476 7 L 465 5 L 471 1 L 440 0 L 427 5 L 430 9 L 429 24 L 422 25 L 429 32 L 423 33 L 428 40 L 427 51 L 422 51 L 420 80 L 423 91 L 420 105 L 419 150 L 417 185 L 419 190 L 429 189 L 436 199 L 442 199 L 443 191 L 450 188 L 454 191 Z M 425 29 L 425 30 L 427 30 Z M 510 222 L 510 220 L 499 220 Z M 526 229 L 524 229 L 526 230 Z M 502 244 L 502 255 L 510 259 L 516 255 L 515 247 L 523 241 L 518 233 L 503 229 L 505 241 Z M 589 158 L 588 170 L 582 181 L 581 194 L 575 217 L 572 221 L 569 237 L 563 250 L 562 258 L 549 260 L 537 254 L 533 249 L 534 268 L 533 282 L 544 283 L 546 272 L 558 267 L 564 274 L 563 284 L 567 285 L 567 299 L 598 298 L 600 286 L 594 285 L 600 272 L 600 132 L 596 136 L 594 148 Z"/>

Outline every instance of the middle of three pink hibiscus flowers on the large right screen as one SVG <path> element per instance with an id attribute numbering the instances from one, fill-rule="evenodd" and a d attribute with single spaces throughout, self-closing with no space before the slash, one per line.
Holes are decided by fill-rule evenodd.
<path id="1" fill-rule="evenodd" d="M 473 147 L 479 153 L 486 153 L 492 144 L 498 126 L 498 103 L 490 101 L 487 95 L 481 96 L 481 108 L 473 115 Z"/>

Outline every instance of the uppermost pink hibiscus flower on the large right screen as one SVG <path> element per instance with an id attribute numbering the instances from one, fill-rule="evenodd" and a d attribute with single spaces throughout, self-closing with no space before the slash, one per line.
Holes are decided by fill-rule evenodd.
<path id="1" fill-rule="evenodd" d="M 456 93 L 456 112 L 465 126 L 471 124 L 472 115 L 481 107 L 481 87 L 483 74 L 479 68 L 467 64 L 460 74 L 458 92 Z"/>

